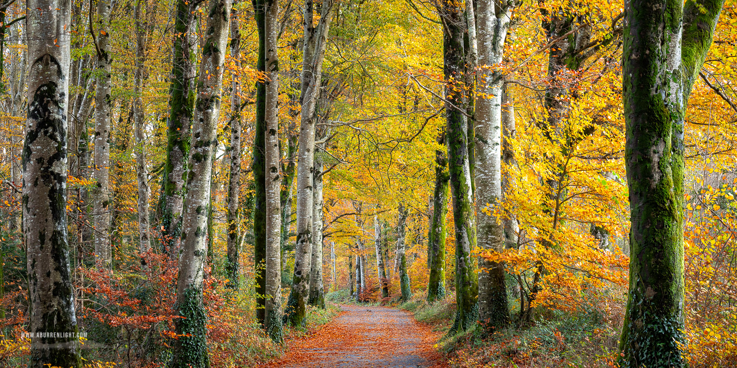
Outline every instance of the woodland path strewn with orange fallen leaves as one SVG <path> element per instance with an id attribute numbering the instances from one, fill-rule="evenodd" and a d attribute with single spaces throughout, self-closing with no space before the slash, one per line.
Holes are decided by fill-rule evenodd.
<path id="1" fill-rule="evenodd" d="M 271 368 L 441 368 L 433 344 L 438 335 L 394 308 L 340 305 L 332 322 Z"/>

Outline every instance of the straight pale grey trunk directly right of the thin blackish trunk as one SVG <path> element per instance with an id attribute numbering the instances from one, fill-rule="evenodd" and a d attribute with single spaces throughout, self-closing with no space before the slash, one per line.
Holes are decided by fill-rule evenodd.
<path id="1" fill-rule="evenodd" d="M 279 1 L 266 0 L 266 333 L 282 343 L 282 158 L 279 151 Z"/>

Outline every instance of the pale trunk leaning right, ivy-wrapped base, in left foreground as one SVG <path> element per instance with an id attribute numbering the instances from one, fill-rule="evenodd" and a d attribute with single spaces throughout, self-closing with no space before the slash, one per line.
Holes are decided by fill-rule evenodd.
<path id="1" fill-rule="evenodd" d="M 211 0 L 202 49 L 192 150 L 189 152 L 186 208 L 182 220 L 181 255 L 175 310 L 176 333 L 171 368 L 209 368 L 203 305 L 207 256 L 207 215 L 212 180 L 212 152 L 217 145 L 220 88 L 223 84 L 231 0 Z"/>

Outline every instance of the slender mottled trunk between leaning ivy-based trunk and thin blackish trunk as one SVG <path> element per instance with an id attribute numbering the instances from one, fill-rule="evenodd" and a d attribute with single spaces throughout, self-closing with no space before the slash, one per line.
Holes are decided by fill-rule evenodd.
<path id="1" fill-rule="evenodd" d="M 232 12 L 231 17 L 231 59 L 236 66 L 240 66 L 240 21 L 238 11 Z M 230 127 L 231 141 L 228 154 L 230 155 L 230 173 L 228 174 L 228 261 L 226 275 L 228 287 L 237 288 L 240 283 L 240 226 L 238 208 L 240 205 L 240 76 L 233 74 L 231 81 L 231 111 Z"/>

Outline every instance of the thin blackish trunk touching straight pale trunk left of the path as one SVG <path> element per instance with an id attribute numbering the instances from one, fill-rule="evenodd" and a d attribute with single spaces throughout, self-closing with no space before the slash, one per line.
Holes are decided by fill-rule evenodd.
<path id="1" fill-rule="evenodd" d="M 259 32 L 259 59 L 256 69 L 266 72 L 266 0 L 254 0 L 256 28 Z M 256 131 L 254 132 L 254 263 L 256 264 L 256 319 L 263 325 L 266 312 L 266 84 L 256 82 Z"/>

